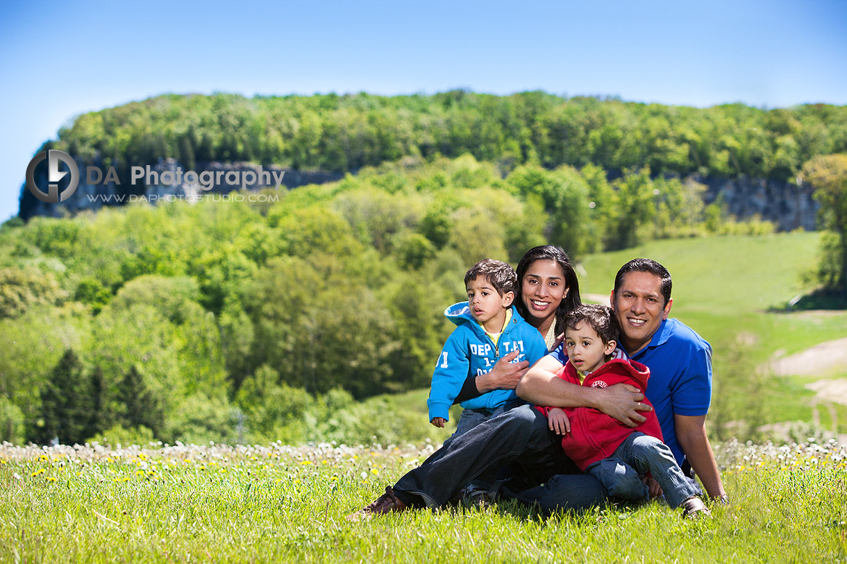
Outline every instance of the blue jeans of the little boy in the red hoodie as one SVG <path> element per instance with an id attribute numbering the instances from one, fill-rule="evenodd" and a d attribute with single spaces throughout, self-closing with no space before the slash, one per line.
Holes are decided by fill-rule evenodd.
<path id="1" fill-rule="evenodd" d="M 678 507 L 692 495 L 700 495 L 694 480 L 679 468 L 673 452 L 661 440 L 639 431 L 630 434 L 615 453 L 585 469 L 606 486 L 609 495 L 624 500 L 648 500 L 647 485 L 639 473 L 650 472 L 662 486 L 667 504 Z"/>

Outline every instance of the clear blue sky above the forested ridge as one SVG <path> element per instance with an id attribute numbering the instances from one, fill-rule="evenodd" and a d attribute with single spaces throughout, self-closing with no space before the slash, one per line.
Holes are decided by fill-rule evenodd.
<path id="1" fill-rule="evenodd" d="M 0 0 L 0 221 L 75 115 L 165 92 L 847 104 L 845 0 Z"/>

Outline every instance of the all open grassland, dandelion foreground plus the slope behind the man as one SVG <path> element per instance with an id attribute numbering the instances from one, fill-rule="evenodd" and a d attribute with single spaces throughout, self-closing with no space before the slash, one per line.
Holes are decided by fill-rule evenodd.
<path id="1" fill-rule="evenodd" d="M 785 311 L 810 290 L 801 274 L 817 241 L 813 233 L 658 241 L 582 263 L 581 290 L 593 294 L 607 294 L 629 258 L 664 263 L 672 316 L 714 346 L 709 432 L 731 503 L 711 506 L 711 518 L 684 521 L 658 503 L 547 516 L 498 502 L 345 520 L 436 441 L 4 443 L 0 561 L 845 561 L 847 445 L 822 434 L 847 433 L 847 408 L 833 406 L 837 421 L 822 421 L 835 429 L 813 429 L 810 377 L 767 368 L 775 356 L 847 336 L 847 312 Z M 425 395 L 389 401 L 420 412 L 426 426 Z M 732 438 L 738 421 L 743 442 Z M 797 440 L 770 442 L 757 430 L 792 421 L 805 424 Z"/>

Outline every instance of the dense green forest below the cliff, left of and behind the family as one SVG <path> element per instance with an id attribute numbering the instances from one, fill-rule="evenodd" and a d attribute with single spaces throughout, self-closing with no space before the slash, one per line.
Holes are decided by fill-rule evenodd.
<path id="1" fill-rule="evenodd" d="M 547 241 L 579 257 L 773 229 L 723 218 L 701 190 L 647 169 L 610 181 L 594 165 L 503 179 L 468 155 L 365 168 L 276 203 L 9 221 L 0 439 L 72 443 L 116 427 L 170 442 L 399 434 L 407 416 L 380 406 L 396 421 L 376 422 L 353 398 L 428 385 L 450 331 L 442 312 L 462 299 L 470 264 L 517 263 Z"/>

